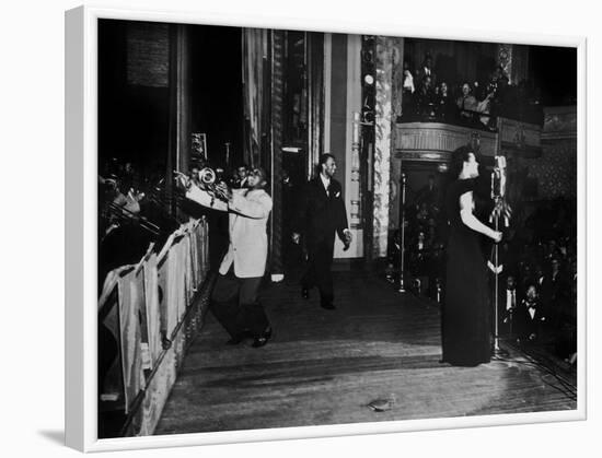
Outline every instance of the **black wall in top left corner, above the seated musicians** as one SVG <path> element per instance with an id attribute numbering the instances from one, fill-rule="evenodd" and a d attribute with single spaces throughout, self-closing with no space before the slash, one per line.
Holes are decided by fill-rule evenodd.
<path id="1" fill-rule="evenodd" d="M 169 56 L 157 52 L 158 47 L 169 48 L 165 24 L 99 21 L 101 164 L 116 157 L 146 173 L 164 167 L 169 87 L 157 69 L 166 71 Z"/>

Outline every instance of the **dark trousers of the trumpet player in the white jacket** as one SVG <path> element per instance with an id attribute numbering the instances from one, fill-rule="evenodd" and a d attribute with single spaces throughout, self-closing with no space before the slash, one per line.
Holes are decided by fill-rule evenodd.
<path id="1" fill-rule="evenodd" d="M 257 301 L 261 284 L 261 277 L 240 279 L 232 271 L 218 275 L 210 309 L 231 337 L 246 331 L 259 337 L 269 326 L 264 307 Z"/>

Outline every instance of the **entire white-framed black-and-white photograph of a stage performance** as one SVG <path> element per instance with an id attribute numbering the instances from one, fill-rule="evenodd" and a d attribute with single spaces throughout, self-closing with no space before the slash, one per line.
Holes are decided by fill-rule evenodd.
<path id="1" fill-rule="evenodd" d="M 586 419 L 582 37 L 66 13 L 66 442 Z"/>

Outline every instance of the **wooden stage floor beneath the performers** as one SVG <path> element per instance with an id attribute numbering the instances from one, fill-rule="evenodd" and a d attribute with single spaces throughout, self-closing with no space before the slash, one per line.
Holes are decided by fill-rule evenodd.
<path id="1" fill-rule="evenodd" d="M 311 293 L 303 301 L 294 280 L 264 290 L 274 337 L 261 349 L 225 345 L 208 313 L 155 434 L 577 408 L 566 385 L 512 349 L 477 367 L 439 363 L 437 305 L 371 273 L 335 272 L 336 310 Z M 393 395 L 390 410 L 368 408 Z"/>

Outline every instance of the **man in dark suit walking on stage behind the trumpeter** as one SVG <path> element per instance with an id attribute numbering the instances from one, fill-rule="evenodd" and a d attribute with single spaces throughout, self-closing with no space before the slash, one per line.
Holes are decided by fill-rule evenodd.
<path id="1" fill-rule="evenodd" d="M 319 169 L 317 177 L 308 183 L 300 196 L 292 239 L 298 244 L 303 234 L 308 249 L 308 269 L 301 279 L 302 296 L 308 298 L 309 290 L 316 285 L 322 307 L 334 309 L 331 266 L 335 233 L 345 244 L 345 249 L 348 249 L 351 232 L 347 224 L 340 184 L 333 178 L 336 172 L 335 157 L 332 154 L 322 154 Z"/>

